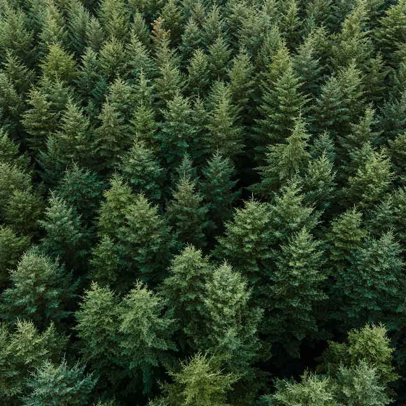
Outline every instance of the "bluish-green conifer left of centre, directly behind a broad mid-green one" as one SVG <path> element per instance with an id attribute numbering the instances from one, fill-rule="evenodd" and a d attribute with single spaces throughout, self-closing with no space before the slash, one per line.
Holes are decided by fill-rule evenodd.
<path id="1" fill-rule="evenodd" d="M 162 168 L 144 143 L 135 142 L 118 167 L 135 193 L 144 192 L 152 201 L 161 199 Z"/>

